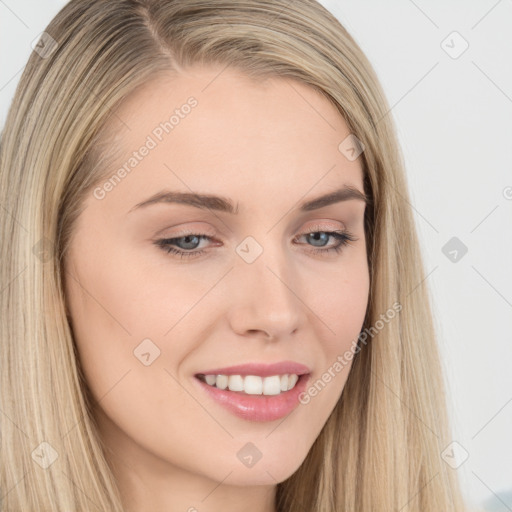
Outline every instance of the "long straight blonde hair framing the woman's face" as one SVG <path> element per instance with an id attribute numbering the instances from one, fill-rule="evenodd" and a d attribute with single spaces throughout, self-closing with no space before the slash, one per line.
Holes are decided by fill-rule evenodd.
<path id="1" fill-rule="evenodd" d="M 277 486 L 277 510 L 463 510 L 441 458 L 451 441 L 444 383 L 395 128 L 339 21 L 315 0 L 72 0 L 46 34 L 0 150 L 2 510 L 123 510 L 67 318 L 63 258 L 85 194 L 103 177 L 116 108 L 159 73 L 194 64 L 296 79 L 339 110 L 364 144 L 371 198 L 364 329 L 402 308 L 359 345 L 339 403 Z"/>

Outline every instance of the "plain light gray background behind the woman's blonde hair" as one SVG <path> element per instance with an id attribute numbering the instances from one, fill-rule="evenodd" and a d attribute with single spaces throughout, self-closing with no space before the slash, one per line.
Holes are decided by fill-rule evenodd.
<path id="1" fill-rule="evenodd" d="M 31 42 L 65 3 L 0 0 L 0 126 Z M 456 462 L 469 455 L 453 471 L 471 503 L 512 511 L 512 0 L 321 3 L 368 56 L 397 124 Z M 456 262 L 442 252 L 452 237 L 468 248 Z"/>

